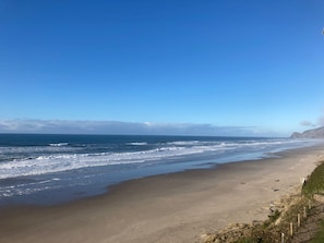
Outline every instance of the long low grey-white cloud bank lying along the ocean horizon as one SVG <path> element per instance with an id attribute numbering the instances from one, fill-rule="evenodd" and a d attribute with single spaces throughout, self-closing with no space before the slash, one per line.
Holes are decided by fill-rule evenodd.
<path id="1" fill-rule="evenodd" d="M 206 135 L 283 136 L 254 126 L 217 126 L 193 123 L 122 121 L 0 120 L 0 133 L 120 134 L 120 135 Z"/>

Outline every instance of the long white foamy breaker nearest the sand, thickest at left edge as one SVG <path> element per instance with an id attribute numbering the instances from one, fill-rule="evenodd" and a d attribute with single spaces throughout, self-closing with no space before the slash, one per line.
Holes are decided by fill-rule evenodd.
<path id="1" fill-rule="evenodd" d="M 127 153 L 41 155 L 36 158 L 1 162 L 0 179 L 53 173 L 87 167 L 160 161 L 166 158 L 188 156 L 215 149 L 219 148 L 208 146 L 193 146 L 190 148 L 171 146 Z"/>

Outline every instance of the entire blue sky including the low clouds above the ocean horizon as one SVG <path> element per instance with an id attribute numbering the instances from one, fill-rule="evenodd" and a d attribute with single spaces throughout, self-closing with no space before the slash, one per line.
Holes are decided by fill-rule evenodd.
<path id="1" fill-rule="evenodd" d="M 322 0 L 0 0 L 0 132 L 324 125 Z"/>

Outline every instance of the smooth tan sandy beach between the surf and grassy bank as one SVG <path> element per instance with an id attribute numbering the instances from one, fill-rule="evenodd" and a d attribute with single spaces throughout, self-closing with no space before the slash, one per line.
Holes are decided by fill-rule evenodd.
<path id="1" fill-rule="evenodd" d="M 0 242 L 200 242 L 230 222 L 265 220 L 324 160 L 323 146 L 128 181 L 63 205 L 0 208 Z"/>

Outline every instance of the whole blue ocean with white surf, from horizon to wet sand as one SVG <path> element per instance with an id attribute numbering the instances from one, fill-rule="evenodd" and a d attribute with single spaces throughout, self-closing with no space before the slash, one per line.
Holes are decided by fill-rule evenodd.
<path id="1" fill-rule="evenodd" d="M 317 141 L 266 137 L 0 134 L 0 205 L 55 205 L 127 180 L 261 159 Z"/>

